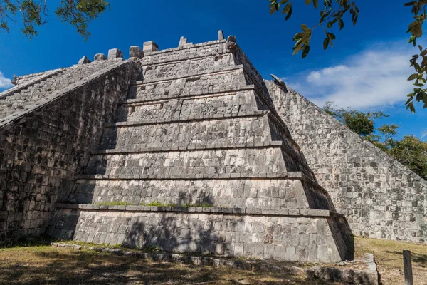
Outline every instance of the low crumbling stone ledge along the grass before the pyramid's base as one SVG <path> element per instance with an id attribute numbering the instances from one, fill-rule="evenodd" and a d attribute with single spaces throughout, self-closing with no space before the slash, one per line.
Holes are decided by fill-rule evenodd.
<path id="1" fill-rule="evenodd" d="M 52 243 L 54 247 L 68 247 L 80 250 L 82 247 L 75 244 Z M 108 247 L 87 247 L 95 252 L 107 252 L 120 256 L 137 257 L 140 259 L 149 259 L 162 262 L 179 262 L 183 264 L 192 264 L 199 266 L 225 266 L 246 271 L 267 271 L 267 272 L 288 272 L 289 274 L 304 274 L 306 279 L 342 282 L 342 284 L 360 284 L 360 285 L 378 285 L 379 274 L 376 270 L 374 256 L 367 254 L 367 258 L 362 260 L 368 264 L 367 270 L 355 270 L 348 268 L 337 268 L 332 266 L 314 266 L 311 268 L 301 268 L 292 265 L 272 264 L 264 260 L 245 260 L 245 259 L 226 259 L 209 256 L 193 256 L 189 254 L 172 254 L 162 252 L 142 252 L 125 251 L 117 248 Z M 361 262 L 361 261 L 355 261 Z"/>

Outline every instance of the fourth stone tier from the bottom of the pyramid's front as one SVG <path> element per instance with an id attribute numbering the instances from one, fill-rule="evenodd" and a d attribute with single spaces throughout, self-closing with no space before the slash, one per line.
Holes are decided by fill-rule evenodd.
<path id="1" fill-rule="evenodd" d="M 268 127 L 268 125 L 267 125 Z M 184 121 L 155 125 L 108 126 L 102 136 L 101 150 L 179 149 L 180 147 L 214 147 L 219 145 L 245 145 L 270 140 L 265 120 L 244 117 L 227 118 L 212 124 L 209 120 Z"/>

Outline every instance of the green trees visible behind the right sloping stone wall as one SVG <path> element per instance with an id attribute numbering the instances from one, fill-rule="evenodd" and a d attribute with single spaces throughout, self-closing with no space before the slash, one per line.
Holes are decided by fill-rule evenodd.
<path id="1" fill-rule="evenodd" d="M 375 129 L 374 120 L 387 117 L 386 114 L 381 111 L 364 113 L 350 108 L 337 109 L 334 108 L 332 102 L 325 103 L 322 110 L 406 165 L 413 172 L 427 179 L 427 142 L 423 142 L 413 135 L 405 135 L 401 140 L 396 140 L 399 125 L 382 125 Z M 379 131 L 379 135 L 375 133 L 375 130 Z"/>

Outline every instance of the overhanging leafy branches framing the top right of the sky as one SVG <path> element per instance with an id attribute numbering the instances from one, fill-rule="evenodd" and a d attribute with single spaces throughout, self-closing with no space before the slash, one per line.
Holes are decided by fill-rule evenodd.
<path id="1" fill-rule="evenodd" d="M 270 5 L 270 14 L 281 11 L 285 14 L 285 20 L 290 19 L 292 15 L 292 0 L 268 0 Z M 327 49 L 328 46 L 333 46 L 333 41 L 336 39 L 332 28 L 339 26 L 339 30 L 344 28 L 345 17 L 349 16 L 350 21 L 353 25 L 357 23 L 359 17 L 359 8 L 357 7 L 356 1 L 352 0 L 305 0 L 305 4 L 312 4 L 315 8 L 319 8 L 319 2 L 323 9 L 320 11 L 319 24 L 308 27 L 306 24 L 301 25 L 301 31 L 295 33 L 292 41 L 295 41 L 293 47 L 293 54 L 302 52 L 302 58 L 305 58 L 310 53 L 310 41 L 312 33 L 316 28 L 321 28 L 325 33 L 325 39 L 323 40 L 323 48 Z M 427 19 L 427 0 L 409 1 L 403 4 L 404 6 L 411 7 L 411 14 L 413 14 L 413 21 L 408 24 L 408 31 L 411 36 L 408 43 L 412 43 L 416 46 L 416 40 L 423 36 L 423 24 Z M 414 81 L 413 92 L 407 95 L 406 108 L 415 113 L 415 107 L 413 105 L 414 100 L 416 102 L 422 102 L 423 108 L 427 108 L 427 48 L 418 46 L 419 53 L 412 56 L 411 67 L 414 68 L 415 73 L 409 76 L 408 81 Z M 418 51 L 417 51 L 418 52 Z"/>

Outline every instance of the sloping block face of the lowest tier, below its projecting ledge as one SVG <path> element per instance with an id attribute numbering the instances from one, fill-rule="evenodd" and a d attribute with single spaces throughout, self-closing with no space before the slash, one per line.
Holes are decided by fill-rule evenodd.
<path id="1" fill-rule="evenodd" d="M 66 232 L 66 235 L 73 236 L 75 240 L 97 244 L 118 243 L 130 247 L 157 247 L 167 252 L 274 257 L 278 260 L 310 262 L 335 261 L 334 254 L 339 255 L 327 221 L 317 218 L 83 210 L 73 212 L 70 209 L 60 209 L 53 218 L 48 234 L 58 238 L 64 234 L 61 225 L 72 223 L 75 224 L 75 230 L 73 233 Z M 307 246 L 297 238 L 301 227 L 310 232 L 307 237 L 310 251 L 315 252 L 314 259 L 310 259 Z M 323 244 L 330 250 L 323 252 Z"/>

